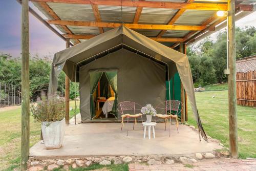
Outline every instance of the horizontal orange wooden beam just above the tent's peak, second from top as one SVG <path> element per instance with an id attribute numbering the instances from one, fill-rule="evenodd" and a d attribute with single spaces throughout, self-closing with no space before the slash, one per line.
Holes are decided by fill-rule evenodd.
<path id="1" fill-rule="evenodd" d="M 181 26 L 181 25 L 146 25 L 146 24 L 121 24 L 103 22 L 82 22 L 73 20 L 47 20 L 49 24 L 62 26 L 86 26 L 86 27 L 107 27 L 116 28 L 121 25 L 130 29 L 151 29 L 151 30 L 203 30 L 204 26 Z"/>

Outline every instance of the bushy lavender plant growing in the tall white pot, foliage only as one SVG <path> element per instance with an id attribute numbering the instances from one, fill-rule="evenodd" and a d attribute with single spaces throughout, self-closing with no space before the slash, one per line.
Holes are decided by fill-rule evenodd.
<path id="1" fill-rule="evenodd" d="M 65 115 L 65 99 L 53 96 L 46 98 L 45 94 L 31 104 L 32 116 L 38 122 L 55 122 L 62 120 Z"/>

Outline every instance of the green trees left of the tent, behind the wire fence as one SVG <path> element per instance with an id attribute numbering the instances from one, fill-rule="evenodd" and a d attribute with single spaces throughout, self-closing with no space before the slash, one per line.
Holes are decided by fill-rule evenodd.
<path id="1" fill-rule="evenodd" d="M 51 60 L 48 58 L 30 57 L 30 97 L 36 99 L 41 91 L 47 93 Z M 0 53 L 0 81 L 6 84 L 13 84 L 21 88 L 22 65 L 21 59 L 13 59 L 11 55 Z M 61 72 L 58 78 L 58 92 L 63 95 L 65 92 L 65 73 Z"/>

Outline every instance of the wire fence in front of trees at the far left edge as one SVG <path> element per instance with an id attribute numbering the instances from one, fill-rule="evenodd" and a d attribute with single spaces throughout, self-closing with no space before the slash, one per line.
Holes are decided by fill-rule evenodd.
<path id="1" fill-rule="evenodd" d="M 21 97 L 19 87 L 0 82 L 0 108 L 21 104 Z"/>

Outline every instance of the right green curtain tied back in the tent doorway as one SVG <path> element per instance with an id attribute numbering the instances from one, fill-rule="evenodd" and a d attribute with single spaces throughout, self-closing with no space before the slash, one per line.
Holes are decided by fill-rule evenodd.
<path id="1" fill-rule="evenodd" d="M 114 100 L 114 104 L 113 104 L 113 108 L 112 108 L 112 113 L 116 116 L 117 118 L 117 72 L 116 71 L 108 71 L 105 72 L 106 74 L 106 78 L 108 78 L 110 86 L 112 88 L 112 90 L 115 93 L 115 100 Z"/>

